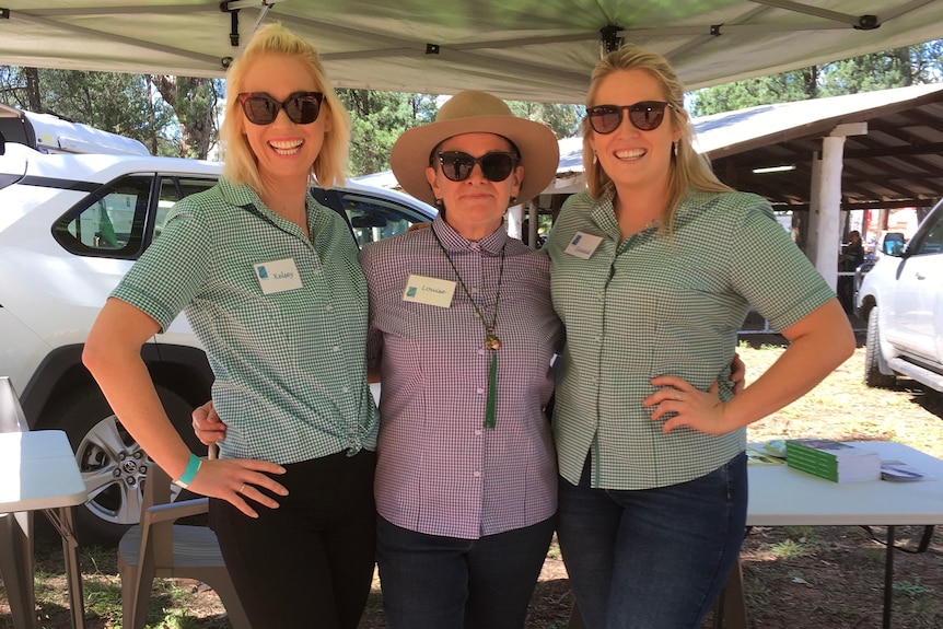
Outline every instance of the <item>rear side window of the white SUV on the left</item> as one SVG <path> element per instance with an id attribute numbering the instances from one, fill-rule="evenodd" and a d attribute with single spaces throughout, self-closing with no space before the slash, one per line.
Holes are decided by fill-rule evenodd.
<path id="1" fill-rule="evenodd" d="M 152 203 L 155 180 L 159 194 Z M 160 234 L 178 200 L 214 184 L 212 177 L 121 177 L 69 209 L 54 224 L 53 235 L 77 255 L 136 259 Z"/>

